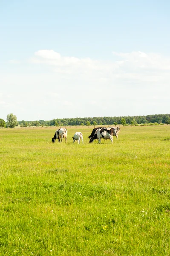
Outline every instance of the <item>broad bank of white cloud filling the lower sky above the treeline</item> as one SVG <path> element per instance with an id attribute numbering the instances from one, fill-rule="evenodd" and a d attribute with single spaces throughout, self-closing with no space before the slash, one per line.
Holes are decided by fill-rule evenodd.
<path id="1" fill-rule="evenodd" d="M 40 50 L 27 67 L 25 73 L 23 66 L 0 77 L 5 117 L 14 113 L 18 120 L 38 115 L 48 120 L 167 113 L 170 109 L 170 58 L 158 53 L 113 52 L 104 61 Z"/>

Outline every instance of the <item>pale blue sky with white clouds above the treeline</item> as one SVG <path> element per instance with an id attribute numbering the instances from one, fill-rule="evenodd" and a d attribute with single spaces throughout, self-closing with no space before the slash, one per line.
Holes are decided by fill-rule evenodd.
<path id="1" fill-rule="evenodd" d="M 170 1 L 0 0 L 0 118 L 170 113 Z"/>

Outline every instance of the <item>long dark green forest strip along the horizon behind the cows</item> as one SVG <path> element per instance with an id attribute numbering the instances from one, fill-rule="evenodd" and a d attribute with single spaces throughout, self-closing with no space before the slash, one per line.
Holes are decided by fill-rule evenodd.
<path id="1" fill-rule="evenodd" d="M 147 116 L 104 116 L 104 117 L 76 117 L 76 118 L 57 118 L 50 121 L 19 121 L 21 126 L 66 126 L 66 125 L 113 125 L 122 124 L 122 119 L 125 119 L 126 124 L 170 124 L 170 114 L 158 114 Z"/>

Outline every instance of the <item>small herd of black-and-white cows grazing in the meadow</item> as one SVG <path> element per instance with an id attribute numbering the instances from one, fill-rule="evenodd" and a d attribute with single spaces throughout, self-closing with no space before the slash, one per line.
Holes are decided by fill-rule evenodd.
<path id="1" fill-rule="evenodd" d="M 89 143 L 92 143 L 94 140 L 98 140 L 98 143 L 101 143 L 101 139 L 104 140 L 111 140 L 113 143 L 113 136 L 115 136 L 118 139 L 118 133 L 120 131 L 119 127 L 97 127 L 92 130 L 92 133 L 90 134 Z M 55 135 L 52 138 L 52 143 L 55 143 L 55 140 L 58 139 L 58 142 L 61 143 L 63 138 L 67 140 L 67 129 L 66 128 L 60 128 L 57 131 L 55 131 Z M 82 140 L 83 143 L 83 134 L 81 132 L 76 132 L 75 135 L 72 137 L 73 143 L 75 140 L 78 140 L 78 144 L 80 144 L 80 140 Z"/>

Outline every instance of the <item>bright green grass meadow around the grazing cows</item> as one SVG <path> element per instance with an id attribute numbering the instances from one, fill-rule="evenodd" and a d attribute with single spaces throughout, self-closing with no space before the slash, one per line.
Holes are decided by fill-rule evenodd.
<path id="1" fill-rule="evenodd" d="M 170 255 L 170 126 L 91 131 L 0 129 L 1 256 Z"/>

